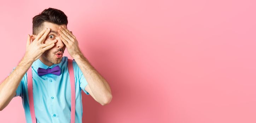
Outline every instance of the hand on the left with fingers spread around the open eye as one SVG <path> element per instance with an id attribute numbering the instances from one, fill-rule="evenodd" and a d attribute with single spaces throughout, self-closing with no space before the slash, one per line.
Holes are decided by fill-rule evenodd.
<path id="1" fill-rule="evenodd" d="M 33 62 L 40 58 L 40 56 L 46 51 L 49 50 L 54 46 L 54 44 L 57 42 L 57 40 L 53 40 L 48 43 L 43 43 L 47 37 L 47 35 L 50 33 L 51 29 L 48 28 L 43 29 L 37 36 L 36 38 L 32 41 L 31 43 L 31 37 L 28 35 L 28 40 L 27 40 L 27 49 L 26 49 L 26 54 L 25 58 L 29 60 L 33 60 Z"/>

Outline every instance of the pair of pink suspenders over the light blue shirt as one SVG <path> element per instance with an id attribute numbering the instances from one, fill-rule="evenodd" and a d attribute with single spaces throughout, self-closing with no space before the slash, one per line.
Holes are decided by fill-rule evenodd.
<path id="1" fill-rule="evenodd" d="M 68 70 L 71 87 L 71 123 L 75 123 L 75 108 L 76 108 L 76 92 L 75 92 L 75 77 L 72 60 L 68 59 Z M 28 75 L 28 97 L 29 97 L 29 109 L 32 119 L 32 123 L 36 123 L 35 108 L 34 108 L 34 97 L 33 97 L 33 80 L 32 80 L 32 67 L 29 67 L 27 72 Z"/>

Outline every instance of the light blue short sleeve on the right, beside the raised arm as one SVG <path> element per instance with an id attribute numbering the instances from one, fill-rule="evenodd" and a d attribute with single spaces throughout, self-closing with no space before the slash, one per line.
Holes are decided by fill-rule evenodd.
<path id="1" fill-rule="evenodd" d="M 89 93 L 85 90 L 85 87 L 86 87 L 86 85 L 88 85 L 88 83 L 87 83 L 87 80 L 85 79 L 85 77 L 83 76 L 83 72 L 78 67 L 75 60 L 73 60 L 73 65 L 74 65 L 74 67 L 76 67 L 76 69 L 78 71 L 78 80 L 79 80 L 79 83 L 80 83 L 80 88 L 83 90 L 83 92 L 86 93 L 86 95 L 89 95 Z"/>

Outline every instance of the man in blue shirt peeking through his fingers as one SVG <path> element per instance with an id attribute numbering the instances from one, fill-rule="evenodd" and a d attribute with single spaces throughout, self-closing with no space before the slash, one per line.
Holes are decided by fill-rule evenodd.
<path id="1" fill-rule="evenodd" d="M 72 60 L 75 76 L 75 122 L 82 122 L 81 90 L 91 95 L 101 105 L 112 100 L 109 84 L 90 65 L 78 47 L 78 41 L 67 29 L 67 16 L 60 10 L 48 8 L 33 18 L 33 34 L 28 35 L 27 50 L 21 62 L 0 85 L 0 110 L 13 97 L 21 96 L 27 123 L 31 123 L 28 98 L 27 71 L 32 66 L 33 97 L 37 123 L 70 123 L 70 79 L 68 58 Z M 60 75 L 40 75 L 39 69 L 60 67 Z M 28 71 L 31 72 L 31 71 Z"/>

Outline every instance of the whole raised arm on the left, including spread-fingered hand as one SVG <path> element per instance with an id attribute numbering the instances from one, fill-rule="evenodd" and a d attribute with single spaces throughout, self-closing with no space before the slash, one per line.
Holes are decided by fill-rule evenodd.
<path id="1" fill-rule="evenodd" d="M 25 56 L 14 71 L 0 84 L 0 111 L 3 110 L 16 95 L 16 90 L 19 83 L 33 62 L 46 50 L 52 48 L 54 43 L 56 43 L 56 39 L 48 43 L 43 43 L 50 31 L 50 28 L 45 28 L 44 30 L 42 29 L 42 31 L 36 35 L 36 38 L 33 39 L 32 42 L 31 36 L 28 34 Z"/>

